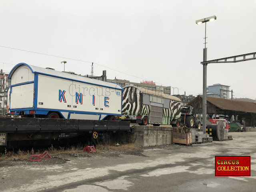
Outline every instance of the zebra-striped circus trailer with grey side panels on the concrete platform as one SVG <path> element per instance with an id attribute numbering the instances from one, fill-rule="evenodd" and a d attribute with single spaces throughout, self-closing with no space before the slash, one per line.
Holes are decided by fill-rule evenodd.
<path id="1" fill-rule="evenodd" d="M 124 87 L 122 117 L 140 125 L 179 125 L 181 100 L 161 92 Z"/>

